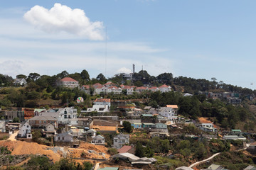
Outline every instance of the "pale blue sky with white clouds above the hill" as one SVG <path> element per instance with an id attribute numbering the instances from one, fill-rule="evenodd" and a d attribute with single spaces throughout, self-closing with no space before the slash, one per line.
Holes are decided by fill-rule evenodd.
<path id="1" fill-rule="evenodd" d="M 0 74 L 143 69 L 256 89 L 256 1 L 0 1 Z"/>

